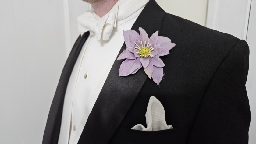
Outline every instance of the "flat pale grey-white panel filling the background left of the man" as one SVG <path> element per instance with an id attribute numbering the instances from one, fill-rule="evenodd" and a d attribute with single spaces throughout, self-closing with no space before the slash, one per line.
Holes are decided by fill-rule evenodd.
<path id="1" fill-rule="evenodd" d="M 0 143 L 40 143 L 66 59 L 63 2 L 1 0 Z"/>

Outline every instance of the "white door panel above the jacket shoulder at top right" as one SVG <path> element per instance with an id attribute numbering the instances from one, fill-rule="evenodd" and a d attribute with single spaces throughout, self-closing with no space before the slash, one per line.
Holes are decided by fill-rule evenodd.
<path id="1" fill-rule="evenodd" d="M 209 0 L 206 26 L 246 40 L 251 0 Z"/>

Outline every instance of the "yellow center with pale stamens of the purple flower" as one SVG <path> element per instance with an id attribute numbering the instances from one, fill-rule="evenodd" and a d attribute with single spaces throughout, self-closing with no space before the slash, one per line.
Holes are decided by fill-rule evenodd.
<path id="1" fill-rule="evenodd" d="M 154 48 L 150 47 L 151 44 L 148 43 L 146 46 L 146 41 L 145 41 L 144 46 L 143 46 L 142 41 L 140 41 L 141 48 L 135 42 L 134 42 L 134 44 L 137 46 L 135 48 L 138 49 L 138 51 L 136 53 L 138 53 L 140 55 L 140 57 L 144 57 L 144 58 L 148 58 L 149 56 L 153 57 L 153 55 L 151 54 L 151 51 L 153 51 Z"/>

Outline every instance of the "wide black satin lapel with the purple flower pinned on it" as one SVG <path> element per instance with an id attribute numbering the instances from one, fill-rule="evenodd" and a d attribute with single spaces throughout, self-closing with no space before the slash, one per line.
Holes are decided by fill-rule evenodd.
<path id="1" fill-rule="evenodd" d="M 155 0 L 150 0 L 133 24 L 132 29 L 138 32 L 138 28 L 142 27 L 149 36 L 157 30 L 160 33 L 164 14 L 164 10 L 158 6 Z M 120 49 L 118 56 L 124 48 L 126 48 L 125 44 Z M 118 75 L 121 63 L 122 60 L 114 62 L 87 119 L 78 144 L 108 143 L 144 85 L 147 76 L 143 68 L 136 74 L 121 77 Z"/>

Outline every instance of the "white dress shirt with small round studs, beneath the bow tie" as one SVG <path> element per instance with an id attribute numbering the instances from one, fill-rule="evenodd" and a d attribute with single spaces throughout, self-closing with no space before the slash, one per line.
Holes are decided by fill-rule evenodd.
<path id="1" fill-rule="evenodd" d="M 120 3 L 117 3 L 110 10 L 114 11 L 117 17 L 119 5 Z M 144 6 L 122 20 L 117 19 L 109 40 L 97 41 L 95 35 L 89 35 L 87 38 L 67 86 L 59 144 L 77 144 L 117 54 L 123 46 L 123 30 L 131 29 Z M 99 19 L 98 16 L 96 18 Z"/>

